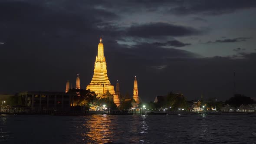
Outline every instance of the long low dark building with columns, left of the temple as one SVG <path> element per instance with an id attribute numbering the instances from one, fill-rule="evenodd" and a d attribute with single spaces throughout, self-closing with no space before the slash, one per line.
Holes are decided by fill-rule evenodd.
<path id="1" fill-rule="evenodd" d="M 72 96 L 65 92 L 26 91 L 17 95 L 18 107 L 24 107 L 31 112 L 69 111 L 72 102 Z"/>

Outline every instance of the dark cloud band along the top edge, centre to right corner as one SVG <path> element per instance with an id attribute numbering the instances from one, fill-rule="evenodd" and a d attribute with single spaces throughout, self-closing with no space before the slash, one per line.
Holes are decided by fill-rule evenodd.
<path id="1" fill-rule="evenodd" d="M 124 14 L 144 11 L 177 15 L 220 15 L 256 7 L 255 0 L 101 0 L 83 3 Z"/>

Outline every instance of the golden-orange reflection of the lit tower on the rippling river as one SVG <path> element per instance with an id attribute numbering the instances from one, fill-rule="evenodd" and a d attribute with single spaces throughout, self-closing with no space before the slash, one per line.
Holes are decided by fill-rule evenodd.
<path id="1" fill-rule="evenodd" d="M 113 131 L 111 126 L 111 119 L 108 115 L 92 115 L 91 118 L 85 121 L 85 133 L 81 134 L 85 137 L 84 141 L 92 143 L 103 144 L 112 142 Z"/>

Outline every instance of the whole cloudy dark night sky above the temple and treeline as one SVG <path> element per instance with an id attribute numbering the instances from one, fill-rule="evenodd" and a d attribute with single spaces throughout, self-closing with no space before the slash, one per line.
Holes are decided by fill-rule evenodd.
<path id="1" fill-rule="evenodd" d="M 86 88 L 100 36 L 122 94 L 256 97 L 256 0 L 0 0 L 0 93 Z"/>

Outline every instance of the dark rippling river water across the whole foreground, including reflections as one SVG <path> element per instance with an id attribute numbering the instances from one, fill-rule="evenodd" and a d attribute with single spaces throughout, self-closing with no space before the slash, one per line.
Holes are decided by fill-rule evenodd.
<path id="1" fill-rule="evenodd" d="M 256 144 L 256 115 L 1 115 L 0 143 Z"/>

